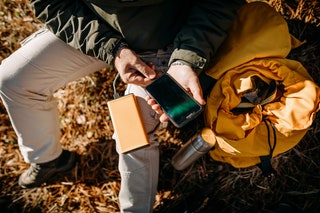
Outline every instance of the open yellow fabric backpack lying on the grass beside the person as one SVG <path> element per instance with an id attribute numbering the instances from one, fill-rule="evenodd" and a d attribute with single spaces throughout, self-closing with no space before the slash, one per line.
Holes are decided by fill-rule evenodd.
<path id="1" fill-rule="evenodd" d="M 210 156 L 236 168 L 259 164 L 274 172 L 272 157 L 303 138 L 319 110 L 320 89 L 298 61 L 286 58 L 301 44 L 266 3 L 243 6 L 215 65 L 205 125 L 217 136 Z"/>

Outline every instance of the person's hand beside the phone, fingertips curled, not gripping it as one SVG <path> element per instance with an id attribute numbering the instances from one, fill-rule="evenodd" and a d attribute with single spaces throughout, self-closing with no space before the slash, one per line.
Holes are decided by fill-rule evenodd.
<path id="1" fill-rule="evenodd" d="M 156 77 L 156 72 L 129 48 L 118 51 L 114 66 L 125 83 L 146 86 Z"/>

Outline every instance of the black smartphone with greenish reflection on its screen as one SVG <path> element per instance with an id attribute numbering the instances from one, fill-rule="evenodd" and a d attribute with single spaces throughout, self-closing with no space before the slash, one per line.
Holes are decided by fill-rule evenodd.
<path id="1" fill-rule="evenodd" d="M 178 128 L 196 118 L 203 110 L 203 106 L 169 74 L 154 80 L 146 87 L 146 91 Z"/>

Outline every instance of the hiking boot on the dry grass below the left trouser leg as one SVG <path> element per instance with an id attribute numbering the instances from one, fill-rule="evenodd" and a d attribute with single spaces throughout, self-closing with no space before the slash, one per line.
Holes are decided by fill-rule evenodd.
<path id="1" fill-rule="evenodd" d="M 20 175 L 18 183 L 22 188 L 41 186 L 50 177 L 71 169 L 74 164 L 75 153 L 63 150 L 55 160 L 47 163 L 31 163 L 29 169 Z"/>

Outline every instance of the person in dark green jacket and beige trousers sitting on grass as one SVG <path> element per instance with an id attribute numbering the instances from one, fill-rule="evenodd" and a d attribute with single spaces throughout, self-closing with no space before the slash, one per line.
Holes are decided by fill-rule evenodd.
<path id="1" fill-rule="evenodd" d="M 158 183 L 157 114 L 144 86 L 168 72 L 201 104 L 198 80 L 210 66 L 244 0 L 31 0 L 44 28 L 2 61 L 0 96 L 30 168 L 23 188 L 45 183 L 74 165 L 63 150 L 53 93 L 80 77 L 113 66 L 139 98 L 150 146 L 119 153 L 122 212 L 151 212 Z M 153 63 L 154 69 L 149 66 Z M 174 92 L 174 91 L 173 91 Z"/>

